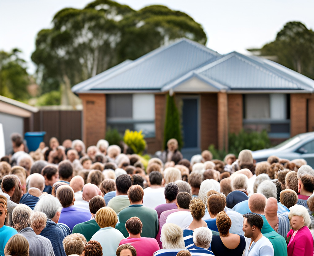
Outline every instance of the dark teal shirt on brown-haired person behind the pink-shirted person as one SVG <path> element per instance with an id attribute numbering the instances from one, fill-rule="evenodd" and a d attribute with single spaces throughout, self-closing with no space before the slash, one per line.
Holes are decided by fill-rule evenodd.
<path id="1" fill-rule="evenodd" d="M 158 233 L 158 215 L 154 209 L 143 206 L 142 204 L 132 204 L 129 207 L 123 209 L 119 213 L 119 221 L 116 225 L 116 229 L 121 231 L 124 237 L 128 237 L 129 233 L 125 228 L 125 223 L 131 217 L 138 217 L 142 223 L 141 237 L 153 237 L 155 238 Z"/>

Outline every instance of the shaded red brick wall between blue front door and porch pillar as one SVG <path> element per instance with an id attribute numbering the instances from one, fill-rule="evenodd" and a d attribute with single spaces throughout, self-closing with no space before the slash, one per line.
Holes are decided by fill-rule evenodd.
<path id="1" fill-rule="evenodd" d="M 217 94 L 202 93 L 201 100 L 201 150 L 208 149 L 210 144 L 218 145 L 217 140 Z"/>

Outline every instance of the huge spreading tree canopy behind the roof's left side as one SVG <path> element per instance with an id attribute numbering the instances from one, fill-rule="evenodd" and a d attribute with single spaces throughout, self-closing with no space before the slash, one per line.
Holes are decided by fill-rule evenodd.
<path id="1" fill-rule="evenodd" d="M 136 59 L 176 38 L 205 44 L 200 24 L 185 13 L 152 5 L 135 11 L 110 0 L 64 8 L 52 28 L 38 32 L 32 61 L 42 92 L 73 86 L 126 59 Z"/>

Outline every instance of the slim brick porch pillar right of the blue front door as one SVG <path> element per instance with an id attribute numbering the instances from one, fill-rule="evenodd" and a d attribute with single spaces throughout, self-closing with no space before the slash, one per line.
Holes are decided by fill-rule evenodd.
<path id="1" fill-rule="evenodd" d="M 228 99 L 226 92 L 218 92 L 218 149 L 228 151 Z"/>

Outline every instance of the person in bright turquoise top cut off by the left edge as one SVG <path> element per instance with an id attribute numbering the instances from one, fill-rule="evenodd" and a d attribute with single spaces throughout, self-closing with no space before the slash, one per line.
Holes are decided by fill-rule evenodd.
<path id="1" fill-rule="evenodd" d="M 4 255 L 4 246 L 10 237 L 17 234 L 17 231 L 14 228 L 4 225 L 7 215 L 7 198 L 0 195 L 0 255 Z"/>

